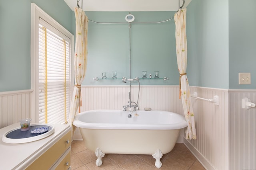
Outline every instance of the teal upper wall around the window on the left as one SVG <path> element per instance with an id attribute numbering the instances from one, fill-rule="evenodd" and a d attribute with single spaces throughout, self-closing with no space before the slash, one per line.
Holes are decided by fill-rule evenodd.
<path id="1" fill-rule="evenodd" d="M 0 92 L 30 89 L 30 6 L 34 2 L 73 33 L 74 13 L 63 0 L 0 1 Z"/>

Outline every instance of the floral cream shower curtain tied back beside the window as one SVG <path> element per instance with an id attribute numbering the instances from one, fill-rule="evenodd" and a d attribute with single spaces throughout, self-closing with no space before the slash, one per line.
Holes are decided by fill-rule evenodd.
<path id="1" fill-rule="evenodd" d="M 76 44 L 74 52 L 74 76 L 75 87 L 72 95 L 70 114 L 68 124 L 72 126 L 73 120 L 77 112 L 80 113 L 81 99 L 81 84 L 84 80 L 87 68 L 87 28 L 88 18 L 81 8 L 74 8 L 76 16 Z M 73 132 L 75 127 L 73 127 Z"/>

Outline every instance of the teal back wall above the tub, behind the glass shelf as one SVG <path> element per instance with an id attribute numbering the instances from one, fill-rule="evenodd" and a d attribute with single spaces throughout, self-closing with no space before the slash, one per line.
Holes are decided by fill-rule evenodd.
<path id="1" fill-rule="evenodd" d="M 175 12 L 131 12 L 134 22 L 163 21 Z M 98 22 L 126 22 L 129 12 L 86 12 L 90 20 Z M 118 78 L 129 78 L 129 27 L 126 24 L 88 24 L 88 68 L 82 85 L 129 85 Z M 141 85 L 177 85 L 179 74 L 176 59 L 174 20 L 164 23 L 131 24 L 131 78 L 142 78 L 142 71 L 152 74 L 152 79 Z M 169 80 L 154 79 L 154 71 Z M 107 72 L 107 80 L 102 80 Z M 99 81 L 93 78 L 98 77 Z M 149 75 L 148 75 L 149 77 Z"/>

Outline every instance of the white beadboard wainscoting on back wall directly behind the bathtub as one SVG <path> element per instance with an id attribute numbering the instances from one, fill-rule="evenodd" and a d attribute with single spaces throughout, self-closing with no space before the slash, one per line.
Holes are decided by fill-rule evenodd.
<path id="1" fill-rule="evenodd" d="M 120 109 L 128 105 L 130 86 L 82 86 L 81 111 Z M 131 99 L 138 100 L 138 86 L 132 86 Z M 178 86 L 140 86 L 139 109 L 172 111 L 183 115 Z"/>

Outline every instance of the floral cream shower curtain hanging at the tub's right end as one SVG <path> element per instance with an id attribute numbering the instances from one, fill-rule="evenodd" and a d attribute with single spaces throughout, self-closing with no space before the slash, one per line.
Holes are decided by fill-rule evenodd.
<path id="1" fill-rule="evenodd" d="M 184 115 L 188 123 L 186 129 L 186 139 L 196 139 L 196 127 L 194 120 L 194 111 L 191 104 L 191 96 L 186 75 L 187 69 L 187 37 L 186 37 L 186 8 L 180 9 L 174 14 L 176 25 L 176 54 L 178 70 L 180 73 L 180 98 Z"/>

